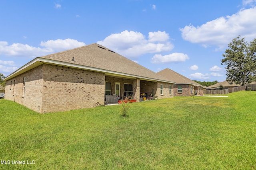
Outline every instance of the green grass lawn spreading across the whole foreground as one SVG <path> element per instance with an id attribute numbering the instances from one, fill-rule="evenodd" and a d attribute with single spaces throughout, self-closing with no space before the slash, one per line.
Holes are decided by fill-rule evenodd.
<path id="1" fill-rule="evenodd" d="M 0 169 L 256 169 L 256 92 L 38 114 L 0 100 Z M 12 164 L 32 161 L 34 164 Z"/>

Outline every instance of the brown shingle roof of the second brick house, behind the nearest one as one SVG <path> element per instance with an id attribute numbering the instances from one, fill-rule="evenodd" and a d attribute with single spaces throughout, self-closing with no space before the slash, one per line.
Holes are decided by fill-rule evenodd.
<path id="1" fill-rule="evenodd" d="M 157 74 L 168 78 L 169 81 L 175 82 L 174 84 L 192 84 L 194 86 L 203 87 L 201 84 L 194 82 L 193 80 L 190 80 L 189 78 L 186 78 L 185 76 L 182 76 L 178 72 L 175 72 L 169 68 L 159 71 Z"/>

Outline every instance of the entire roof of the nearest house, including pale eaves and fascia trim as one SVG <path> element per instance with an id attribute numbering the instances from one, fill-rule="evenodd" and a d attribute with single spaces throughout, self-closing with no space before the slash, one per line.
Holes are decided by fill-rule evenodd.
<path id="1" fill-rule="evenodd" d="M 142 80 L 174 83 L 167 78 L 156 74 L 152 70 L 149 70 L 148 68 L 145 68 L 144 66 L 141 66 L 140 64 L 137 64 L 96 43 L 37 57 L 7 76 L 5 80 L 26 72 L 27 70 L 43 63 L 105 72 L 106 75 L 110 76 L 140 78 Z"/>

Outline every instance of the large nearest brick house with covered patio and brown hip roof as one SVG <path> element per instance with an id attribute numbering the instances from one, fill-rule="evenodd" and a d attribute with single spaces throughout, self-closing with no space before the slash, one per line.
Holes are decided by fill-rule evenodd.
<path id="1" fill-rule="evenodd" d="M 39 113 L 104 105 L 105 95 L 174 94 L 174 82 L 96 43 L 37 57 L 4 80 L 5 99 Z"/>

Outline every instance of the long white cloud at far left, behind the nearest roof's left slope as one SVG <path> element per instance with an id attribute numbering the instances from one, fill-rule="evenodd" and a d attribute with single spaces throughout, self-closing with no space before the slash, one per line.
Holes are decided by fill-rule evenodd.
<path id="1" fill-rule="evenodd" d="M 78 42 L 74 39 L 57 39 L 42 41 L 41 47 L 32 47 L 27 44 L 13 43 L 8 45 L 6 41 L 0 41 L 0 55 L 24 57 L 24 58 L 35 58 L 39 56 L 48 55 L 50 53 L 56 53 L 76 47 L 85 45 L 83 42 Z"/>

